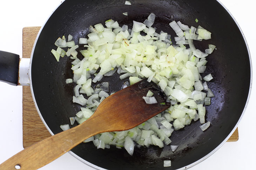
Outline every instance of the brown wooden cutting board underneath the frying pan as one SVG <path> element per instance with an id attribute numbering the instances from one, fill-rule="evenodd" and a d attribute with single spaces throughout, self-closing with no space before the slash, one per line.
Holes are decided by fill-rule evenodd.
<path id="1" fill-rule="evenodd" d="M 22 30 L 22 57 L 29 58 L 36 36 L 41 27 L 25 27 Z M 29 147 L 49 136 L 50 133 L 42 123 L 32 99 L 29 86 L 23 86 L 22 98 L 22 119 L 23 119 L 23 147 Z M 238 140 L 238 129 L 229 138 L 228 142 Z"/>

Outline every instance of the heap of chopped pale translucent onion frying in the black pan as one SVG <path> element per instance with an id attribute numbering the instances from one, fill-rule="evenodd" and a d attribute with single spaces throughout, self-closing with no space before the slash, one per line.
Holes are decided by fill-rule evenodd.
<path id="1" fill-rule="evenodd" d="M 132 155 L 134 142 L 137 143 L 137 147 L 150 145 L 163 147 L 164 144 L 171 143 L 169 137 L 174 130 L 189 125 L 191 120 L 200 119 L 201 124 L 205 123 L 206 109 L 203 104 L 210 104 L 209 97 L 214 95 L 208 89 L 206 82 L 202 84 L 200 73 L 206 70 L 206 56 L 216 47 L 209 45 L 209 49 L 203 53 L 195 48 L 193 40 L 208 39 L 211 36 L 210 32 L 200 26 L 198 29 L 193 26 L 189 29 L 188 25 L 173 21 L 170 26 L 178 36 L 174 38 L 177 44 L 174 45 L 171 43 L 170 34 L 161 30 L 159 30 L 160 34 L 156 33 L 156 28 L 153 28 L 155 17 L 155 14 L 151 13 L 144 23 L 134 21 L 132 30 L 127 25 L 119 26 L 117 21 L 111 19 L 105 22 L 107 28 L 101 23 L 94 25 L 95 28 L 90 26 L 88 39 L 79 39 L 80 44 L 86 44 L 80 47 L 86 48 L 79 51 L 84 57 L 82 60 L 77 58 L 78 45 L 75 45 L 70 36 L 68 42 L 64 36 L 56 41 L 57 44 L 62 43 L 63 46 L 71 47 L 65 52 L 58 46 L 53 53 L 58 60 L 59 56 L 65 55 L 68 57 L 71 55 L 70 58 L 74 59 L 72 62 L 74 77 L 67 82 L 76 83 L 73 102 L 85 106 L 70 119 L 71 125 L 74 120 L 81 124 L 92 116 L 97 106 L 109 96 L 106 92 L 110 95 L 115 93 L 110 91 L 108 82 L 94 86 L 92 81 L 95 83 L 101 81 L 104 76 L 112 76 L 116 70 L 117 74 L 125 73 L 120 75 L 120 79 L 124 80 L 120 88 L 126 88 L 147 78 L 148 82 L 153 81 L 160 86 L 168 96 L 166 102 L 172 104 L 166 111 L 131 130 L 97 134 L 83 142 L 93 141 L 97 148 L 102 149 L 109 148 L 110 145 L 117 148 L 124 147 Z M 145 34 L 141 35 L 141 31 Z M 189 44 L 190 48 L 186 47 L 186 44 Z M 90 78 L 92 76 L 94 78 Z M 211 79 L 211 77 L 207 78 Z M 109 78 L 105 77 L 105 79 Z M 208 91 L 207 97 L 202 90 Z M 81 94 L 86 94 L 88 100 Z M 146 103 L 156 104 L 156 98 L 153 96 L 154 94 L 148 91 L 143 99 Z"/>

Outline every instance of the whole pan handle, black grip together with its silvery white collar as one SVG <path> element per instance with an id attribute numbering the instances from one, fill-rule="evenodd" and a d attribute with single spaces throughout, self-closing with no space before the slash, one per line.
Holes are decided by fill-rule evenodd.
<path id="1" fill-rule="evenodd" d="M 0 81 L 13 86 L 29 86 L 29 58 L 0 51 Z"/>

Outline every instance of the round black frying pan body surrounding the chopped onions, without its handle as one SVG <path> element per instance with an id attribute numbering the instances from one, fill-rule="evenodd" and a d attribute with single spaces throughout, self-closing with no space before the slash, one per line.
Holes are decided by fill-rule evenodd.
<path id="1" fill-rule="evenodd" d="M 207 69 L 202 76 L 211 73 L 214 77 L 208 83 L 216 97 L 206 106 L 206 120 L 211 126 L 202 132 L 200 122 L 192 122 L 184 129 L 171 135 L 171 144 L 179 145 L 172 153 L 170 146 L 158 148 L 135 148 L 133 156 L 126 150 L 110 147 L 96 149 L 92 142 L 81 143 L 72 149 L 72 154 L 85 163 L 89 162 L 98 169 L 179 169 L 189 168 L 216 151 L 234 132 L 247 103 L 250 89 L 250 58 L 244 37 L 236 22 L 227 10 L 215 0 L 137 0 L 132 6 L 124 1 L 86 1 L 66 0 L 48 19 L 41 29 L 33 49 L 31 63 L 32 95 L 39 114 L 52 134 L 61 132 L 60 125 L 68 124 L 80 110 L 80 105 L 72 103 L 75 84 L 66 84 L 72 78 L 71 62 L 68 57 L 56 62 L 50 53 L 55 49 L 55 40 L 62 35 L 73 35 L 78 44 L 80 37 L 86 37 L 89 25 L 104 23 L 108 19 L 120 25 L 132 27 L 132 21 L 143 22 L 153 12 L 156 14 L 155 26 L 176 36 L 169 23 L 173 20 L 187 25 L 203 28 L 212 32 L 210 40 L 200 43 L 194 41 L 197 49 L 204 50 L 214 44 L 217 50 L 207 57 Z M 128 16 L 122 15 L 128 12 Z M 199 22 L 196 23 L 195 19 Z M 79 49 L 84 49 L 83 46 Z M 79 51 L 79 50 L 78 50 Z M 81 58 L 81 54 L 78 58 Z M 104 77 L 110 92 L 120 90 L 124 81 L 119 75 Z M 95 84 L 94 84 L 95 85 Z M 114 104 L 113 104 L 114 107 Z M 74 124 L 76 126 L 77 124 Z M 72 126 L 71 126 L 72 127 Z M 171 160 L 169 168 L 163 168 L 163 161 Z M 198 161 L 199 160 L 199 161 Z M 95 167 L 96 167 L 95 166 Z M 100 168 L 99 168 L 100 167 Z"/>

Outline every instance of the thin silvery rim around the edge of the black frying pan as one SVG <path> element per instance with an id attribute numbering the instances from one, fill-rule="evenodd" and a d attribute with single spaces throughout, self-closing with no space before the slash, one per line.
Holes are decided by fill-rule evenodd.
<path id="1" fill-rule="evenodd" d="M 63 0 L 55 9 L 54 11 L 52 12 L 52 14 L 55 12 L 55 10 L 57 8 L 59 8 L 59 6 L 64 2 L 65 0 Z M 247 106 L 248 106 L 248 103 L 249 103 L 249 98 L 250 98 L 250 95 L 251 95 L 251 88 L 252 88 L 252 61 L 251 61 L 251 54 L 250 54 L 250 50 L 249 50 L 249 46 L 248 46 L 248 43 L 247 43 L 247 40 L 243 34 L 243 31 L 241 29 L 241 27 L 239 26 L 239 24 L 237 23 L 236 19 L 234 18 L 234 16 L 229 12 L 229 10 L 219 1 L 219 0 L 216 0 L 218 3 L 220 3 L 220 5 L 228 12 L 228 14 L 232 17 L 232 19 L 235 21 L 237 27 L 239 28 L 242 36 L 243 36 L 243 39 L 244 39 L 244 42 L 245 42 L 245 45 L 247 47 L 247 51 L 248 51 L 248 55 L 249 55 L 249 61 L 250 61 L 250 87 L 249 87 L 249 93 L 248 93 L 248 97 L 247 97 L 247 101 L 245 103 L 245 106 L 244 106 L 244 109 L 243 109 L 243 112 L 241 114 L 241 117 L 239 118 L 239 120 L 237 121 L 235 127 L 233 128 L 233 130 L 229 133 L 229 135 L 220 143 L 220 145 L 218 145 L 214 150 L 212 150 L 210 153 L 208 153 L 206 156 L 202 157 L 201 159 L 185 166 L 185 167 L 182 167 L 180 169 L 177 169 L 177 170 L 185 170 L 185 169 L 188 169 L 188 168 L 191 168 L 191 167 L 194 167 L 196 164 L 206 160 L 209 156 L 211 156 L 213 153 L 215 153 L 218 149 L 220 149 L 224 143 L 230 138 L 230 136 L 234 133 L 234 131 L 236 130 L 238 124 L 240 123 L 242 117 L 244 116 L 244 113 L 245 113 L 245 110 L 247 109 Z M 49 18 L 52 16 L 52 14 L 50 14 L 50 16 L 48 17 L 48 19 L 45 21 L 45 23 L 43 24 L 43 26 L 40 28 L 39 32 L 38 32 L 38 35 L 36 36 L 36 39 L 35 39 L 35 42 L 34 42 L 34 45 L 33 45 L 33 48 L 32 48 L 32 52 L 31 52 L 31 57 L 30 57 L 30 65 L 29 65 L 29 84 L 30 84 L 30 88 L 31 88 L 31 94 L 32 94 L 32 98 L 33 98 L 33 101 L 34 101 L 34 104 L 35 104 L 35 108 L 36 108 L 36 111 L 38 112 L 43 124 L 45 125 L 45 127 L 47 128 L 47 130 L 49 131 L 49 133 L 51 135 L 54 135 L 54 133 L 50 130 L 50 128 L 48 127 L 48 125 L 46 124 L 45 120 L 43 119 L 42 117 L 42 114 L 38 108 L 38 105 L 36 103 L 36 100 L 35 100 L 35 96 L 34 96 L 34 92 L 33 92 L 33 86 L 32 86 L 32 76 L 31 76 L 31 66 L 32 66 L 32 59 L 33 59 L 33 54 L 34 54 L 34 50 L 35 50 L 35 46 L 36 46 L 36 43 L 37 43 L 37 40 L 40 36 L 40 33 L 42 31 L 42 29 L 44 28 L 45 24 L 48 22 Z M 69 154 L 71 154 L 72 156 L 74 156 L 75 158 L 77 158 L 79 161 L 85 163 L 86 165 L 94 168 L 94 169 L 97 169 L 97 170 L 106 170 L 104 168 L 101 168 L 97 165 L 94 165 L 84 159 L 82 159 L 81 157 L 79 157 L 78 155 L 76 155 L 75 153 L 73 153 L 72 151 L 68 151 Z"/>

